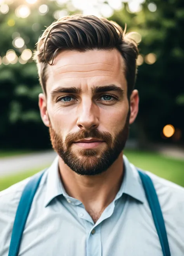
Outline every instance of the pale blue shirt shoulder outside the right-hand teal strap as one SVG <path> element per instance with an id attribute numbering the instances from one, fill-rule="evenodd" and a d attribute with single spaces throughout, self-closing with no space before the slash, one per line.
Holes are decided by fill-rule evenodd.
<path id="1" fill-rule="evenodd" d="M 146 171 L 152 179 L 165 221 L 171 255 L 184 252 L 184 188 Z"/>

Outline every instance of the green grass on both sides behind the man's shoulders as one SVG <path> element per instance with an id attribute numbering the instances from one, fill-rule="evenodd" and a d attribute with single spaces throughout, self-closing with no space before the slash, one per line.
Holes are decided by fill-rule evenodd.
<path id="1" fill-rule="evenodd" d="M 154 174 L 177 183 L 178 185 L 184 186 L 184 161 L 163 157 L 151 152 L 125 150 L 124 153 L 128 157 L 128 160 L 135 166 L 153 172 Z M 0 191 L 14 183 L 26 179 L 42 169 L 44 169 L 44 167 L 1 178 Z"/>

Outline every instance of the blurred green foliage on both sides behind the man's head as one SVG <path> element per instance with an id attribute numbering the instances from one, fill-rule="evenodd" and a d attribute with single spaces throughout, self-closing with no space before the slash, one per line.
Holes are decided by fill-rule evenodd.
<path id="1" fill-rule="evenodd" d="M 154 0 L 157 6 L 155 12 L 149 11 L 149 2 L 146 0 L 142 10 L 137 13 L 128 12 L 128 4 L 125 3 L 124 8 L 115 11 L 110 18 L 123 28 L 127 23 L 128 32 L 137 31 L 142 35 L 139 49 L 143 57 L 149 53 L 156 54 L 156 62 L 150 65 L 144 61 L 139 66 L 137 75 L 140 111 L 132 129 L 142 146 L 148 145 L 148 139 L 161 141 L 160 132 L 166 124 L 174 125 L 184 134 L 184 122 L 181 118 L 184 113 L 183 0 Z M 38 12 L 41 4 L 49 6 L 46 15 Z M 22 19 L 15 15 L 15 9 L 19 5 L 19 1 L 14 1 L 9 5 L 9 12 L 0 15 L 1 57 L 9 49 L 14 49 L 18 57 L 25 47 L 33 51 L 45 27 L 55 20 L 54 11 L 68 9 L 69 14 L 73 13 L 71 2 L 70 5 L 63 3 L 58 6 L 54 1 L 39 0 L 34 5 L 29 5 L 31 15 Z M 10 19 L 15 21 L 14 26 L 8 25 Z M 15 32 L 25 41 L 26 46 L 21 49 L 12 45 Z M 41 122 L 38 110 L 41 87 L 36 64 L 31 59 L 26 64 L 1 64 L 0 92 L 1 147 L 49 147 L 48 132 Z M 167 141 L 171 142 L 172 138 Z M 183 141 L 184 136 L 180 142 Z"/>

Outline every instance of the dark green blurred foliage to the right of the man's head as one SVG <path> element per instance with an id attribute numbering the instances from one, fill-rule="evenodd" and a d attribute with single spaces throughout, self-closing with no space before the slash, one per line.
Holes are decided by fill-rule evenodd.
<path id="1" fill-rule="evenodd" d="M 144 62 L 138 67 L 136 88 L 139 91 L 139 115 L 135 122 L 136 136 L 142 146 L 148 141 L 162 141 L 160 133 L 166 124 L 172 124 L 184 134 L 184 9 L 182 0 L 155 0 L 156 12 L 147 8 L 129 14 L 131 19 L 116 14 L 113 19 L 128 31 L 142 35 L 139 51 L 142 56 L 156 54 L 152 65 Z M 172 142 L 172 138 L 167 139 Z M 184 136 L 179 141 L 184 142 Z"/>

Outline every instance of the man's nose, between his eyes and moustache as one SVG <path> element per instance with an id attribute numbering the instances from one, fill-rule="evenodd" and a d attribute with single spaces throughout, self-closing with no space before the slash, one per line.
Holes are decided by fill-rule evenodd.
<path id="1" fill-rule="evenodd" d="M 98 106 L 86 99 L 79 106 L 77 125 L 80 129 L 95 129 L 99 126 L 98 116 Z"/>

